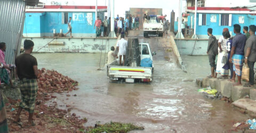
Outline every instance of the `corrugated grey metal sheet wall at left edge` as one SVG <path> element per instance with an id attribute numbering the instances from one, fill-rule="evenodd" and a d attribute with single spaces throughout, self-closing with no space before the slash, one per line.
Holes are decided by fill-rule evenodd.
<path id="1" fill-rule="evenodd" d="M 5 61 L 14 63 L 19 54 L 26 3 L 23 0 L 0 1 L 0 42 L 6 43 Z"/>

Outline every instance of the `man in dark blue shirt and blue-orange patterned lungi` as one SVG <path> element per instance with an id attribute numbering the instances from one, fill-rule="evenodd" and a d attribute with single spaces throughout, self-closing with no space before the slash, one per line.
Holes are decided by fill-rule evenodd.
<path id="1" fill-rule="evenodd" d="M 230 81 L 235 82 L 235 78 L 237 75 L 238 82 L 234 86 L 241 86 L 241 76 L 244 61 L 244 46 L 247 38 L 244 34 L 241 34 L 241 26 L 239 26 L 239 24 L 234 24 L 234 33 L 236 34 L 236 36 L 233 38 L 233 44 L 229 57 L 229 62 L 233 63 L 234 72 L 233 77 Z"/>

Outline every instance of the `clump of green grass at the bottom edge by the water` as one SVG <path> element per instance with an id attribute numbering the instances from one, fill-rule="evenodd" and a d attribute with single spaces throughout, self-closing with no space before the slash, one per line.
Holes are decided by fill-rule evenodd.
<path id="1" fill-rule="evenodd" d="M 95 128 L 89 129 L 89 133 L 98 133 L 98 132 L 129 132 L 132 130 L 144 130 L 143 127 L 135 126 L 131 123 L 119 123 L 119 122 L 110 122 L 106 124 L 96 124 Z"/>

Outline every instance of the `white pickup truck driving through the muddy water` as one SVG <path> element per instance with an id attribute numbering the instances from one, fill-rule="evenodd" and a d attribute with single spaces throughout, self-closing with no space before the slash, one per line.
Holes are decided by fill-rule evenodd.
<path id="1" fill-rule="evenodd" d="M 109 81 L 124 80 L 127 83 L 152 81 L 154 71 L 153 55 L 155 55 L 156 53 L 151 53 L 148 43 L 139 43 L 139 47 L 140 60 L 150 58 L 152 61 L 152 67 L 120 66 L 119 60 L 117 59 L 116 61 L 107 65 L 107 76 L 109 78 Z"/>

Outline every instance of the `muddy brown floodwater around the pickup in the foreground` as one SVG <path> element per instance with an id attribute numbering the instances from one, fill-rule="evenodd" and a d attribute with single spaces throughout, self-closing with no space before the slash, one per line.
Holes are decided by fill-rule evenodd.
<path id="1" fill-rule="evenodd" d="M 196 78 L 210 72 L 205 56 L 183 56 L 188 73 L 177 64 L 154 60 L 151 84 L 108 82 L 106 67 L 98 71 L 100 54 L 34 54 L 38 68 L 55 69 L 79 82 L 79 90 L 69 97 L 60 94 L 60 102 L 73 107 L 71 112 L 87 118 L 86 126 L 117 121 L 145 127 L 132 132 L 222 132 L 233 122 L 249 118 L 229 103 L 211 100 L 197 93 Z M 102 63 L 103 64 L 103 63 Z"/>

